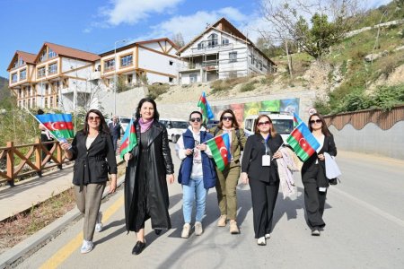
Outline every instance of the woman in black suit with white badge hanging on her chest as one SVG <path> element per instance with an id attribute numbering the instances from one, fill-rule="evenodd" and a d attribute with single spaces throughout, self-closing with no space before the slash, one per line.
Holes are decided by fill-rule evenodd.
<path id="1" fill-rule="evenodd" d="M 279 189 L 275 159 L 282 158 L 278 149 L 284 141 L 268 115 L 257 118 L 254 131 L 255 134 L 247 139 L 242 155 L 242 182 L 250 183 L 255 238 L 259 246 L 265 246 L 272 230 Z"/>

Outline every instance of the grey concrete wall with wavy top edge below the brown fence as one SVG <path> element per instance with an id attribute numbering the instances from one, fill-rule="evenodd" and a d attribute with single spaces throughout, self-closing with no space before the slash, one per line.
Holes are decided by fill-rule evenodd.
<path id="1" fill-rule="evenodd" d="M 340 131 L 329 126 L 329 131 L 334 134 L 337 149 L 404 160 L 404 121 L 396 123 L 389 130 L 369 123 L 361 130 L 346 125 Z"/>

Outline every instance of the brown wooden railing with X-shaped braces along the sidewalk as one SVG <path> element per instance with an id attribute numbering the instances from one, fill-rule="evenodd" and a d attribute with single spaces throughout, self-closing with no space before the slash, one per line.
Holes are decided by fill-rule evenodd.
<path id="1" fill-rule="evenodd" d="M 53 144 L 49 151 L 45 146 L 47 144 Z M 42 152 L 47 154 L 43 160 Z M 35 173 L 41 176 L 43 170 L 55 167 L 62 169 L 62 164 L 68 160 L 57 141 L 40 143 L 40 138 L 37 138 L 35 143 L 23 145 L 8 142 L 5 147 L 0 147 L 0 161 L 0 183 L 8 181 L 13 186 L 16 178 Z"/>

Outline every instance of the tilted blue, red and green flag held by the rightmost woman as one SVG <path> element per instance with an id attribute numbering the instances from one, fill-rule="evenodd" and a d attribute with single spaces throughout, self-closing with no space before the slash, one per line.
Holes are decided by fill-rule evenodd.
<path id="1" fill-rule="evenodd" d="M 292 133 L 286 139 L 287 143 L 294 149 L 300 160 L 307 161 L 314 152 L 320 147 L 320 143 L 310 132 L 303 122 L 294 128 Z"/>

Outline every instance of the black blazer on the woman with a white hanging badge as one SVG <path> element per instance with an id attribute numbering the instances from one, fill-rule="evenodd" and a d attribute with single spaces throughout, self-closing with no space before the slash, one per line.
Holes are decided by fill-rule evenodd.
<path id="1" fill-rule="evenodd" d="M 279 180 L 279 175 L 277 173 L 277 161 L 272 160 L 272 156 L 284 143 L 284 140 L 279 134 L 268 139 L 269 155 L 272 160 L 270 166 L 262 166 L 262 155 L 265 155 L 264 143 L 265 139 L 262 138 L 261 134 L 253 134 L 247 139 L 242 154 L 242 172 L 246 172 L 250 180 L 275 183 Z"/>

